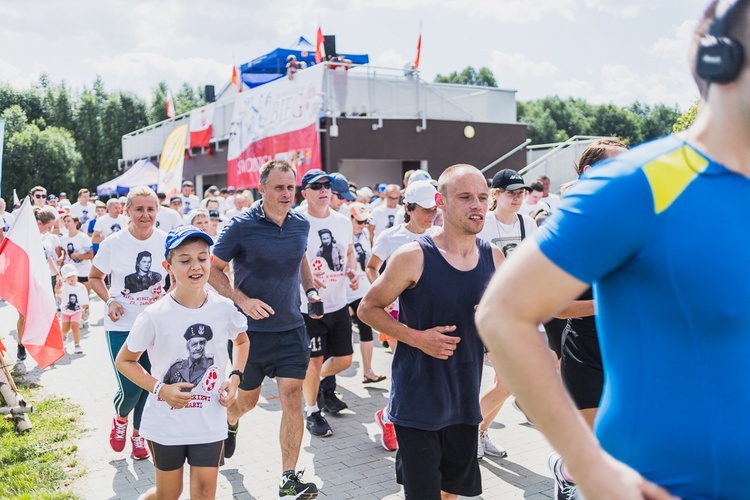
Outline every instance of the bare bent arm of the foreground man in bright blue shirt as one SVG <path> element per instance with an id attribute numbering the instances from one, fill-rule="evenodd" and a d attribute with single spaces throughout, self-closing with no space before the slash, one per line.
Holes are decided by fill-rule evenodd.
<path id="1" fill-rule="evenodd" d="M 541 286 L 540 286 L 541 285 Z M 501 266 L 477 311 L 477 327 L 499 376 L 560 451 L 587 498 L 671 498 L 599 446 L 537 331 L 588 285 L 553 264 L 538 245 L 521 245 Z"/>

